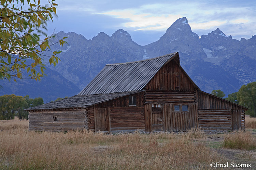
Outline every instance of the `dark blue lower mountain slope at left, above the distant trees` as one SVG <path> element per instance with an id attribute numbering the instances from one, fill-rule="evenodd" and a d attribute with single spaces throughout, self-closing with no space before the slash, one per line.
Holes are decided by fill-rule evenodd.
<path id="1" fill-rule="evenodd" d="M 44 103 L 47 103 L 58 97 L 70 97 L 79 93 L 80 89 L 58 72 L 46 67 L 45 74 L 47 76 L 42 77 L 41 81 L 16 79 L 16 83 L 13 80 L 1 80 L 3 89 L 0 90 L 0 96 L 6 94 L 29 95 L 30 98 L 42 97 Z"/>

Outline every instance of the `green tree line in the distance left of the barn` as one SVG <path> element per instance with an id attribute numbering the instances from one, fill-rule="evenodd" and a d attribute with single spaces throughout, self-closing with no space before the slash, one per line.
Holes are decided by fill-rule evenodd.
<path id="1" fill-rule="evenodd" d="M 19 119 L 28 119 L 26 108 L 44 104 L 43 98 L 31 99 L 29 96 L 3 95 L 0 96 L 0 120 L 14 119 L 17 116 Z"/>

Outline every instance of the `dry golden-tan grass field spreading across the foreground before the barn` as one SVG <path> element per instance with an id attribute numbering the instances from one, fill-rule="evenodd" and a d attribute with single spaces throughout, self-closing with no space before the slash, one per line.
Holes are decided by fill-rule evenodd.
<path id="1" fill-rule="evenodd" d="M 28 121 L 0 121 L 0 169 L 225 169 L 212 162 L 256 169 L 255 133 L 29 132 Z"/>

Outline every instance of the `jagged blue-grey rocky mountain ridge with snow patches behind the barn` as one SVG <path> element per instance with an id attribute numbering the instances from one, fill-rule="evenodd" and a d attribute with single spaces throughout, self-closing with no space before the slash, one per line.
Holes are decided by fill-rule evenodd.
<path id="1" fill-rule="evenodd" d="M 68 37 L 65 39 L 68 44 L 51 48 L 62 51 L 61 62 L 56 67 L 46 64 L 79 89 L 105 64 L 138 61 L 177 51 L 181 66 L 203 91 L 221 89 L 227 96 L 241 85 L 256 81 L 256 35 L 239 41 L 217 28 L 199 38 L 186 17 L 177 19 L 159 40 L 146 46 L 135 43 L 124 30 L 117 30 L 112 36 L 101 32 L 91 40 L 61 31 L 52 41 L 62 37 Z"/>

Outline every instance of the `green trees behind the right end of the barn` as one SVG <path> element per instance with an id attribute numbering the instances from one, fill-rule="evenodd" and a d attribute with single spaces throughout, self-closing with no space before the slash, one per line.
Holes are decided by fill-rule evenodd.
<path id="1" fill-rule="evenodd" d="M 213 90 L 211 94 L 220 98 L 225 96 L 224 92 L 221 90 Z M 256 82 L 242 85 L 238 92 L 229 94 L 228 97 L 224 99 L 247 107 L 248 110 L 245 111 L 245 114 L 256 117 Z"/>

